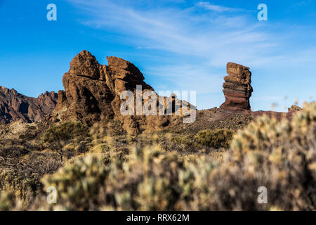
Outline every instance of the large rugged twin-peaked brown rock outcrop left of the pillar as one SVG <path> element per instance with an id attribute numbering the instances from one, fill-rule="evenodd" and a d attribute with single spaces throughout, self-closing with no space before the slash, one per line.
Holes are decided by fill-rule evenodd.
<path id="1" fill-rule="evenodd" d="M 154 89 L 144 82 L 143 74 L 133 63 L 117 57 L 107 57 L 107 61 L 108 65 L 100 65 L 88 51 L 81 51 L 72 59 L 70 70 L 62 78 L 65 91 L 58 92 L 55 117 L 81 120 L 89 126 L 99 121 L 119 120 L 131 135 L 162 128 L 175 120 L 166 115 L 121 115 L 121 103 L 125 101 L 120 98 L 123 91 L 132 91 L 136 102 L 136 85 L 142 86 L 143 93 Z M 164 101 L 167 99 L 164 97 Z M 174 99 L 171 102 L 171 107 L 179 108 L 174 106 Z M 154 110 L 158 109 L 157 103 Z"/>

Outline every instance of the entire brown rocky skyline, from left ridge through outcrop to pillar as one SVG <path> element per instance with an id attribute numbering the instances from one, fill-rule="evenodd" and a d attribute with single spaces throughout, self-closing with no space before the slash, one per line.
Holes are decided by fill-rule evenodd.
<path id="1" fill-rule="evenodd" d="M 220 109 L 197 111 L 192 122 L 183 123 L 183 118 L 190 117 L 190 109 L 195 106 L 178 100 L 173 94 L 158 96 L 133 63 L 113 56 L 107 57 L 107 61 L 108 65 L 101 65 L 90 52 L 81 51 L 72 59 L 70 70 L 62 78 L 65 91 L 58 91 L 58 94 L 46 92 L 38 98 L 29 98 L 1 86 L 0 123 L 20 119 L 37 122 L 45 117 L 51 122 L 79 120 L 91 127 L 96 122 L 114 120 L 127 134 L 137 135 L 159 129 L 195 132 L 217 127 L 236 130 L 252 117 L 265 114 L 279 120 L 282 117 L 290 120 L 299 110 L 291 109 L 290 113 L 252 112 L 249 103 L 253 91 L 251 72 L 244 65 L 228 63 L 228 75 L 223 84 L 225 103 L 220 105 Z M 130 91 L 131 99 L 124 98 L 126 91 Z M 146 98 L 148 92 L 152 94 Z M 124 115 L 121 106 L 129 100 L 133 103 L 126 110 L 132 113 Z M 144 109 L 150 114 L 147 115 Z"/>

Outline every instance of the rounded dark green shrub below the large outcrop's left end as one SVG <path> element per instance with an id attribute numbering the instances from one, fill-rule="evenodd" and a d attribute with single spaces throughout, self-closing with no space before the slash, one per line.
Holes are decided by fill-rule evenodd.
<path id="1" fill-rule="evenodd" d="M 68 141 L 77 137 L 86 137 L 88 135 L 88 127 L 81 122 L 65 122 L 47 129 L 43 135 L 43 141 L 53 143 L 55 141 Z"/>

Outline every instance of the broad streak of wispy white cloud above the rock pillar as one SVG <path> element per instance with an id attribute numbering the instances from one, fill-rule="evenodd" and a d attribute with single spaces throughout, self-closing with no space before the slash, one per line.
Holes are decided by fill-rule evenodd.
<path id="1" fill-rule="evenodd" d="M 223 67 L 227 60 L 246 63 L 276 45 L 261 25 L 249 23 L 247 15 L 214 17 L 211 12 L 197 14 L 194 7 L 152 10 L 112 1 L 70 1 L 90 14 L 82 23 L 120 32 L 125 43 L 202 57 L 212 66 Z"/>

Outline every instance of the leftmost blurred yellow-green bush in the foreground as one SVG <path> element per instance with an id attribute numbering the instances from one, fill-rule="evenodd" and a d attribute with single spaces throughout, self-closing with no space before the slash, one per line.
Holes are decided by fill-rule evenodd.
<path id="1" fill-rule="evenodd" d="M 106 174 L 100 155 L 92 154 L 65 165 L 53 175 L 44 176 L 43 183 L 46 189 L 57 188 L 58 201 L 63 203 L 64 209 L 88 210 L 98 202 Z"/>

